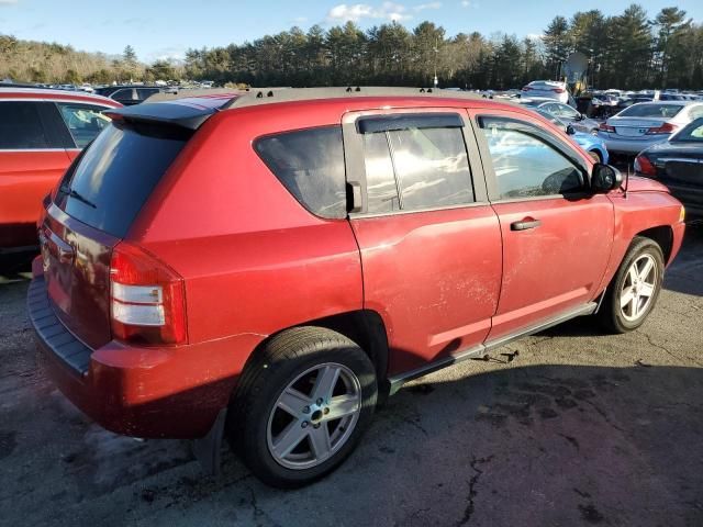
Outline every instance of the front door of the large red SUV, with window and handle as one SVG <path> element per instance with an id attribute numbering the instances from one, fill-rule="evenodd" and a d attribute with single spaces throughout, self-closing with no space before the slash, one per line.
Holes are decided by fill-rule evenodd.
<path id="1" fill-rule="evenodd" d="M 489 340 L 588 311 L 613 244 L 613 204 L 588 190 L 591 161 L 522 113 L 470 111 L 503 238 Z"/>

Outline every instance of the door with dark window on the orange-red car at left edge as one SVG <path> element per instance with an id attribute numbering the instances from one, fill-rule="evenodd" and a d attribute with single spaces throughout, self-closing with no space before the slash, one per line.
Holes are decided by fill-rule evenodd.
<path id="1" fill-rule="evenodd" d="M 52 103 L 0 100 L 0 249 L 37 245 L 42 199 L 69 164 Z"/>

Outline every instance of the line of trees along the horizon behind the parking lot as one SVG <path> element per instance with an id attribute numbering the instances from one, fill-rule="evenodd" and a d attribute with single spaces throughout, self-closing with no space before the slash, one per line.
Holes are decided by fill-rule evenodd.
<path id="1" fill-rule="evenodd" d="M 18 41 L 0 35 L 0 78 L 34 82 L 113 80 L 213 80 L 250 86 L 440 86 L 520 88 L 556 78 L 566 57 L 589 58 L 589 80 L 600 88 L 703 88 L 703 24 L 685 11 L 665 8 L 652 19 L 638 4 L 605 16 L 599 10 L 555 16 L 543 35 L 448 36 L 422 22 L 361 31 L 353 22 L 304 32 L 292 27 L 242 45 L 189 49 L 182 64 L 141 64 L 127 46 L 119 57 L 77 52 L 70 46 Z"/>

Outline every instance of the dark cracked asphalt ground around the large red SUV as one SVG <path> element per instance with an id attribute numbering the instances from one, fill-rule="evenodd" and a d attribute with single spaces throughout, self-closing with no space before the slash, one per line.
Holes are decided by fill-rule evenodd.
<path id="1" fill-rule="evenodd" d="M 0 525 L 703 525 L 701 226 L 640 330 L 578 319 L 423 378 L 293 492 L 228 453 L 204 476 L 185 441 L 90 423 L 37 368 L 27 281 L 2 280 Z"/>

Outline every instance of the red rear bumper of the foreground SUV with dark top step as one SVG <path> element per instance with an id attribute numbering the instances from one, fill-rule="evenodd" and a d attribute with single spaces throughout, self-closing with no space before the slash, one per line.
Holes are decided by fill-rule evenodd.
<path id="1" fill-rule="evenodd" d="M 136 348 L 110 341 L 91 349 L 56 317 L 45 281 L 36 269 L 34 273 L 27 310 L 42 362 L 80 411 L 127 436 L 197 438 L 208 433 L 230 401 L 248 356 L 244 350 L 256 344 L 233 338 L 179 348 Z"/>

